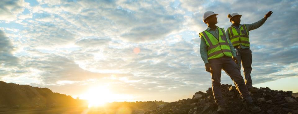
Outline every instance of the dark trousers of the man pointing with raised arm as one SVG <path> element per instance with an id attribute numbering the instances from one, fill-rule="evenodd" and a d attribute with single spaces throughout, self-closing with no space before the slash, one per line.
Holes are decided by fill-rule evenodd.
<path id="1" fill-rule="evenodd" d="M 247 88 L 252 88 L 252 81 L 251 81 L 251 62 L 252 62 L 252 56 L 251 56 L 251 50 L 250 49 L 239 49 L 235 48 L 237 53 L 237 62 L 238 62 L 238 68 L 239 71 L 241 69 L 241 63 L 243 67 L 243 74 L 244 74 L 244 80 Z"/>

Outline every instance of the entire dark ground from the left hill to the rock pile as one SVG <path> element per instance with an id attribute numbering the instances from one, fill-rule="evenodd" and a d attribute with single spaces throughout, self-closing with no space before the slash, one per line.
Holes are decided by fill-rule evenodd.
<path id="1" fill-rule="evenodd" d="M 221 85 L 227 103 L 227 114 L 251 114 L 246 111 L 235 86 Z M 251 94 L 262 109 L 258 114 L 298 114 L 298 93 L 258 89 Z M 84 100 L 54 93 L 48 88 L 18 85 L 0 81 L 0 114 L 217 114 L 212 89 L 196 92 L 192 99 L 176 102 L 137 101 L 106 103 L 104 107 L 88 108 Z"/>

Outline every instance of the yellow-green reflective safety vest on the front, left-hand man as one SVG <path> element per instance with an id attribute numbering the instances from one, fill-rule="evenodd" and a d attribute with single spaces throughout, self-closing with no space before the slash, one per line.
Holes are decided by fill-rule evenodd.
<path id="1" fill-rule="evenodd" d="M 224 28 L 217 28 L 219 39 L 214 37 L 207 30 L 200 33 L 208 46 L 208 60 L 223 57 L 224 55 L 232 57 L 231 49 L 224 32 Z"/>

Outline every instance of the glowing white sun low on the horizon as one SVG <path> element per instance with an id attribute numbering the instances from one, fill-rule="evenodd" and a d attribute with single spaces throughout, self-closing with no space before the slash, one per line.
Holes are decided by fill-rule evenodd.
<path id="1" fill-rule="evenodd" d="M 102 107 L 111 101 L 111 92 L 105 86 L 96 86 L 90 88 L 82 97 L 88 100 L 89 108 Z"/>

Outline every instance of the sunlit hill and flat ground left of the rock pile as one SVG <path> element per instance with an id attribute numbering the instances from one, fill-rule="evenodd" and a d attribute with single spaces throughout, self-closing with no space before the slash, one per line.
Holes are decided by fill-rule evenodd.
<path id="1" fill-rule="evenodd" d="M 48 88 L 32 87 L 0 81 L 0 113 L 2 114 L 143 114 L 154 110 L 163 101 L 106 103 L 104 107 L 88 108 L 87 101 L 54 93 Z"/>

